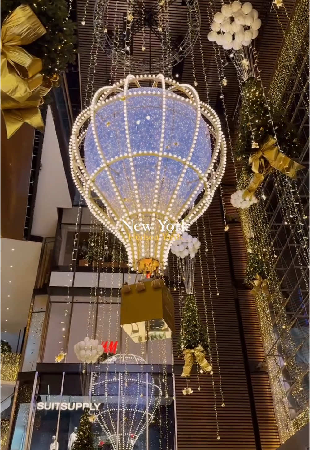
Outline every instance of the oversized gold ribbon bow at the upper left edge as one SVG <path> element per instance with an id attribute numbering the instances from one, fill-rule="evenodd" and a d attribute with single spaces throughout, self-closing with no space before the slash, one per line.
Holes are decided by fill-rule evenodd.
<path id="1" fill-rule="evenodd" d="M 39 105 L 52 88 L 42 76 L 42 61 L 20 45 L 43 36 L 46 29 L 25 4 L 5 18 L 1 28 L 1 110 L 8 139 L 24 122 L 43 130 Z"/>

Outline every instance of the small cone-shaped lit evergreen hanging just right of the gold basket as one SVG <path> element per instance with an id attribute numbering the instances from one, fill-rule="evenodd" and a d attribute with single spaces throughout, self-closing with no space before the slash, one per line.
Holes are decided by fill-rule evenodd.
<path id="1" fill-rule="evenodd" d="M 181 356 L 185 349 L 193 350 L 199 344 L 205 351 L 208 350 L 207 332 L 205 326 L 201 323 L 196 299 L 192 294 L 187 294 L 183 307 L 181 333 L 178 339 L 178 355 Z"/>

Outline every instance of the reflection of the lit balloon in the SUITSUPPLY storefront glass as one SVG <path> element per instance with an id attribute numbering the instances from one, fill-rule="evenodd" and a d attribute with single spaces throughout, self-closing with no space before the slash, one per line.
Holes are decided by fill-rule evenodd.
<path id="1" fill-rule="evenodd" d="M 134 364 L 140 369 L 146 361 L 140 356 L 118 354 L 103 364 Z M 153 421 L 162 391 L 151 374 L 107 370 L 93 375 L 92 395 L 105 398 L 96 420 L 113 450 L 132 450 L 147 421 Z"/>

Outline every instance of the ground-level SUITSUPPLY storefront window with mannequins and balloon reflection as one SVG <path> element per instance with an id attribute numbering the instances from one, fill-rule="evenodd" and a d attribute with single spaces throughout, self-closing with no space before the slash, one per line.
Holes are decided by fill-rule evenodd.
<path id="1" fill-rule="evenodd" d="M 86 407 L 96 415 L 91 425 L 96 450 L 112 450 L 116 442 L 119 448 L 131 448 L 133 441 L 134 450 L 173 450 L 172 377 L 132 372 L 134 365 L 141 369 L 140 363 L 139 357 L 130 356 L 103 362 L 92 376 L 90 397 L 82 395 L 80 374 L 39 375 L 32 418 L 27 423 L 30 404 L 20 405 L 11 450 L 24 450 L 27 426 L 30 450 L 73 450 Z"/>

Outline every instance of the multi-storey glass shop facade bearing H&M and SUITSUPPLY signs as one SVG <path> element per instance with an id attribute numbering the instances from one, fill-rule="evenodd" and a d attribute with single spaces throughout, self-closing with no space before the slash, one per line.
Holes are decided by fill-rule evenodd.
<path id="1" fill-rule="evenodd" d="M 172 339 L 135 343 L 123 331 L 120 288 L 135 275 L 119 258 L 123 249 L 113 235 L 93 224 L 86 208 L 76 222 L 77 212 L 63 211 L 48 294 L 33 300 L 23 356 L 31 381 L 26 391 L 18 386 L 27 395 L 18 396 L 9 449 L 72 450 L 83 407 L 91 403 L 96 449 L 172 450 Z M 114 262 L 119 259 L 124 262 Z M 93 372 L 83 374 L 73 347 L 85 336 L 106 347 Z M 59 371 L 60 349 L 66 356 Z"/>

